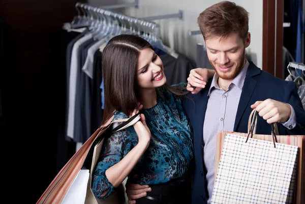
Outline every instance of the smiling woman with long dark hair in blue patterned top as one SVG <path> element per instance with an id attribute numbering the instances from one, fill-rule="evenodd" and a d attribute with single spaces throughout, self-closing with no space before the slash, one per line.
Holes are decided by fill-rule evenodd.
<path id="1" fill-rule="evenodd" d="M 185 87 L 166 85 L 161 59 L 146 40 L 134 35 L 109 40 L 102 68 L 103 120 L 113 112 L 113 120 L 118 120 L 139 111 L 141 120 L 105 139 L 93 174 L 95 195 L 106 198 L 129 177 L 133 183 L 151 186 L 137 203 L 189 203 L 193 140 L 181 105 Z M 215 72 L 208 73 L 210 78 Z"/>

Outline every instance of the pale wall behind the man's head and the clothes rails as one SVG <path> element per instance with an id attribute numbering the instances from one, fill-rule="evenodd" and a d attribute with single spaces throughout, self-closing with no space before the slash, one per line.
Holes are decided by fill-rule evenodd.
<path id="1" fill-rule="evenodd" d="M 97 0 L 89 0 L 97 5 Z M 100 1 L 101 6 L 105 0 Z M 133 0 L 117 0 L 118 4 L 132 3 Z M 203 43 L 202 35 L 189 36 L 189 31 L 198 30 L 197 17 L 207 7 L 216 4 L 218 0 L 139 0 L 139 8 L 126 8 L 123 12 L 129 16 L 148 17 L 184 11 L 184 19 L 156 20 L 161 27 L 158 33 L 165 45 L 184 53 L 191 59 L 196 59 L 196 44 Z M 263 30 L 263 1 L 262 0 L 233 0 L 244 7 L 249 13 L 249 31 L 251 45 L 247 52 L 258 67 L 262 67 L 262 30 Z"/>

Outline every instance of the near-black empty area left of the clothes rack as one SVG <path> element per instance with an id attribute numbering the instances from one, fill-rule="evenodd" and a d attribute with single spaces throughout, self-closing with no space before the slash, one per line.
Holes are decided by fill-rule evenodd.
<path id="1" fill-rule="evenodd" d="M 9 203 L 36 203 L 57 174 L 66 89 L 58 74 L 60 32 L 77 15 L 76 2 L 84 1 L 0 1 L 0 135 Z"/>

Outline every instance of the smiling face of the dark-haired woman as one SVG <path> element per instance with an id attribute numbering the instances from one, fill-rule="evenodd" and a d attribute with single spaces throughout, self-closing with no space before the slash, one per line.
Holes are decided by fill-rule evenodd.
<path id="1" fill-rule="evenodd" d="M 137 81 L 141 89 L 161 87 L 166 83 L 162 60 L 150 48 L 140 51 L 137 67 Z"/>

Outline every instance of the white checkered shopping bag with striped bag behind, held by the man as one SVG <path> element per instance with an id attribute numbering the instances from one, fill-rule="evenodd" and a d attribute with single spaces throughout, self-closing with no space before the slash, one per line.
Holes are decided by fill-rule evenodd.
<path id="1" fill-rule="evenodd" d="M 211 203 L 305 203 L 305 136 L 257 135 L 256 121 L 254 110 L 249 133 L 217 134 Z"/>

